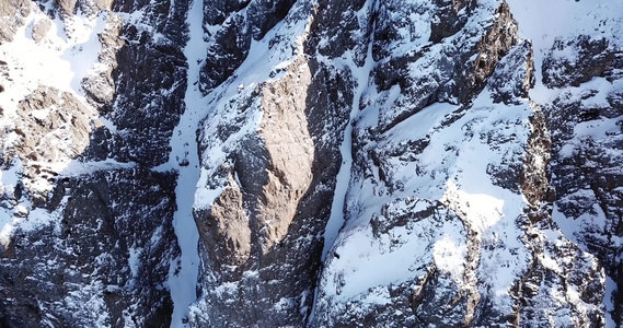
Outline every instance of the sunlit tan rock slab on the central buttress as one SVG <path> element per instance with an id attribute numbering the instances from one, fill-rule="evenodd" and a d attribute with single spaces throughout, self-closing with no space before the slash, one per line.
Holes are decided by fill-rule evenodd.
<path id="1" fill-rule="evenodd" d="M 314 145 L 304 113 L 310 83 L 309 66 L 300 58 L 286 77 L 255 91 L 264 113 L 257 134 L 236 150 L 228 167 L 230 187 L 207 218 L 197 220 L 215 265 L 249 270 L 250 260 L 264 258 L 287 236 L 312 181 Z"/>

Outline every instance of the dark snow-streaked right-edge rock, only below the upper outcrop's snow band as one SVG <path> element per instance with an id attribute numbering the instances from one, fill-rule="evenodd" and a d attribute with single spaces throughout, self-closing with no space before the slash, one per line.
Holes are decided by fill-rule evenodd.
<path id="1" fill-rule="evenodd" d="M 623 164 L 623 107 L 616 99 L 620 91 L 587 87 L 582 93 L 563 92 L 544 106 L 546 124 L 552 133 L 552 164 L 557 223 L 566 235 L 593 254 L 621 290 L 621 207 L 623 186 L 619 167 Z M 603 97 L 605 102 L 596 104 Z M 564 118 L 564 119 L 563 119 Z M 593 132 L 595 131 L 595 132 Z M 612 317 L 621 323 L 621 293 Z"/>

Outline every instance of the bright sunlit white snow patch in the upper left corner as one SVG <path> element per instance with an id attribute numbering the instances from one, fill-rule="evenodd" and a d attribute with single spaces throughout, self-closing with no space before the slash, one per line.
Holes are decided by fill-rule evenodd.
<path id="1" fill-rule="evenodd" d="M 51 23 L 39 44 L 31 37 L 31 30 L 38 21 Z M 11 69 L 9 75 L 12 79 L 1 81 L 4 92 L 0 93 L 0 106 L 13 116 L 18 102 L 38 85 L 71 92 L 83 99 L 80 97 L 80 82 L 97 62 L 101 50 L 97 34 L 104 31 L 106 22 L 105 12 L 93 17 L 78 13 L 65 23 L 58 17 L 50 21 L 32 3 L 32 13 L 25 19 L 25 24 L 18 28 L 13 42 L 0 45 L 0 57 Z"/>

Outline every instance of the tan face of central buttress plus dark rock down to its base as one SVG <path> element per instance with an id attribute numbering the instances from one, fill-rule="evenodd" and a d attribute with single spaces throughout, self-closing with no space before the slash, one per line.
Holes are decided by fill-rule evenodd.
<path id="1" fill-rule="evenodd" d="M 312 138 L 318 131 L 308 101 L 315 83 L 299 56 L 284 77 L 243 102 L 250 105 L 243 112 L 261 110 L 257 130 L 219 168 L 223 191 L 195 214 L 206 270 L 216 278 L 204 291 L 209 315 L 197 319 L 200 326 L 300 326 L 311 309 L 336 173 L 322 168 L 334 154 Z"/>

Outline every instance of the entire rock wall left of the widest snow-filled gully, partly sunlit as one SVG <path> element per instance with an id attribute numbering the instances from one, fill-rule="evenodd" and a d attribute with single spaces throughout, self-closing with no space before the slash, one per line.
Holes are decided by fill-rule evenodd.
<path id="1" fill-rule="evenodd" d="M 123 2 L 117 13 L 105 1 L 55 3 L 49 16 L 31 2 L 13 3 L 23 22 L 3 25 L 16 33 L 5 39 L 34 43 L 49 62 L 37 63 L 41 78 L 28 80 L 37 68 L 27 56 L 3 49 L 0 209 L 10 234 L 1 241 L 0 326 L 169 327 L 168 278 L 180 254 L 176 173 L 146 166 L 168 161 L 184 109 L 184 28 L 163 21 L 183 26 L 185 4 L 177 16 L 146 15 L 161 25 L 163 39 L 155 40 L 151 26 L 124 16 Z M 81 30 L 90 34 L 83 38 Z M 140 43 L 141 33 L 149 40 Z M 65 59 L 69 84 L 54 67 Z"/>

